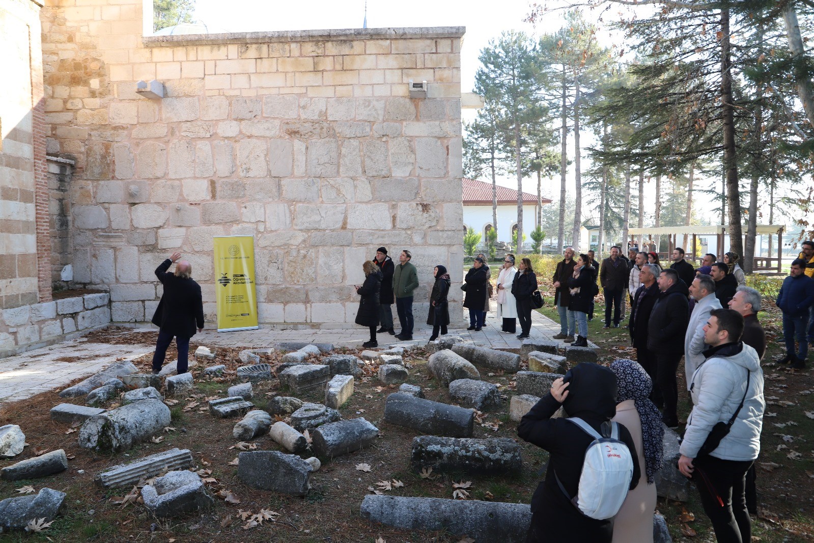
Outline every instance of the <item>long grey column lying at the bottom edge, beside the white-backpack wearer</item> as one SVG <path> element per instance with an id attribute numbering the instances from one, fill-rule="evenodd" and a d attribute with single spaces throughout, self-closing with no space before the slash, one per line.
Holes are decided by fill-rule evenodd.
<path id="1" fill-rule="evenodd" d="M 500 543 L 523 543 L 532 522 L 531 506 L 524 503 L 376 494 L 362 500 L 361 516 L 402 530 L 449 532 Z"/>

